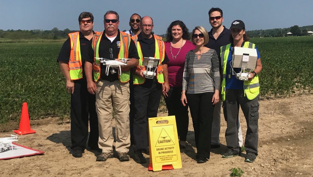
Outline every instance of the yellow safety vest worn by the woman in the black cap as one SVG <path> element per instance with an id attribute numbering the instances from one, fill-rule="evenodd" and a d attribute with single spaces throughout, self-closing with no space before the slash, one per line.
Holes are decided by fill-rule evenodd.
<path id="1" fill-rule="evenodd" d="M 227 44 L 221 47 L 221 62 L 223 68 L 223 81 L 222 81 L 222 101 L 225 101 L 225 91 L 226 91 L 226 64 L 229 55 L 230 45 Z M 255 44 L 250 42 L 244 42 L 244 48 L 254 49 Z M 255 97 L 259 95 L 260 92 L 260 84 L 259 84 L 259 75 L 255 75 L 251 81 L 244 81 L 244 93 L 249 100 L 253 100 Z"/>

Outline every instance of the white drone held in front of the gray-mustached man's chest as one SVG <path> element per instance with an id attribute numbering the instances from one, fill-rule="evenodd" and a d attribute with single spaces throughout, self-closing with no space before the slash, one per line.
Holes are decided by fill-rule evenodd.
<path id="1" fill-rule="evenodd" d="M 105 59 L 105 58 L 97 58 L 97 57 L 95 57 L 95 58 L 99 59 L 100 63 L 107 66 L 106 70 L 105 70 L 106 75 L 109 75 L 110 67 L 112 68 L 111 74 L 116 73 L 115 68 L 119 67 L 118 74 L 121 75 L 122 74 L 121 66 L 127 65 L 127 62 L 131 62 L 131 61 L 127 61 L 127 60 L 130 60 L 128 58 L 119 59 L 120 61 L 118 61 L 116 59 L 115 60 L 109 60 L 109 59 Z"/>

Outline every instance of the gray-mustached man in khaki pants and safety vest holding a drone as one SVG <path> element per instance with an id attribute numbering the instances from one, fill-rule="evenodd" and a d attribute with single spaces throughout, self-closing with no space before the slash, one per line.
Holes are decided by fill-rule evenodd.
<path id="1" fill-rule="evenodd" d="M 104 15 L 105 30 L 93 37 L 89 56 L 86 57 L 85 70 L 87 88 L 91 94 L 96 94 L 96 111 L 99 121 L 99 148 L 102 154 L 97 161 L 106 161 L 113 158 L 112 135 L 112 105 L 114 104 L 116 122 L 115 150 L 120 161 L 129 161 L 127 155 L 130 147 L 129 130 L 129 69 L 138 65 L 136 46 L 129 34 L 120 32 L 119 15 L 115 11 L 108 11 Z M 106 75 L 107 65 L 99 63 L 98 58 L 118 60 L 129 58 L 127 65 L 121 66 L 121 71 L 110 67 Z M 93 75 L 91 71 L 93 70 Z M 87 74 L 88 72 L 88 74 Z M 93 76 L 93 77 L 92 77 Z M 94 81 L 93 79 L 94 78 Z"/>

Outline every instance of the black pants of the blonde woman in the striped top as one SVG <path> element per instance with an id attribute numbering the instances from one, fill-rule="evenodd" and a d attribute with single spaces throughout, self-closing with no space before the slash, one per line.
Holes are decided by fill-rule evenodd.
<path id="1" fill-rule="evenodd" d="M 213 92 L 186 94 L 192 117 L 198 157 L 210 159 L 214 105 Z"/>

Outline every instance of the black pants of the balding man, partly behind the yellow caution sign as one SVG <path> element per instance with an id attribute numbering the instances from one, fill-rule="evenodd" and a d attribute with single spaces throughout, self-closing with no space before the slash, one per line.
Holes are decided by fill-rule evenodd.
<path id="1" fill-rule="evenodd" d="M 141 85 L 134 85 L 134 151 L 148 147 L 148 118 L 157 117 L 162 85 L 156 79 L 146 79 Z"/>

